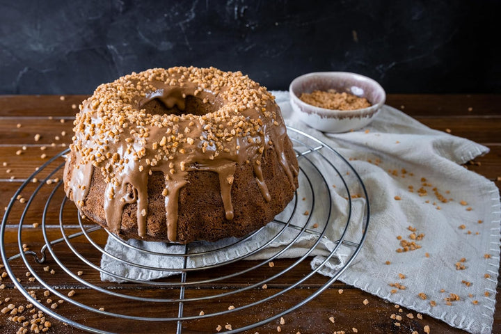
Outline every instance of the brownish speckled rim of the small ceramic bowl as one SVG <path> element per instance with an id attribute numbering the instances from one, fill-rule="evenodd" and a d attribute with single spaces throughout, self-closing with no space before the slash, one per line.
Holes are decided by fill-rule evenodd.
<path id="1" fill-rule="evenodd" d="M 293 86 L 294 86 L 294 84 L 298 84 L 300 81 L 303 81 L 305 79 L 308 79 L 310 77 L 315 77 L 315 76 L 320 76 L 320 77 L 346 76 L 346 77 L 351 77 L 351 78 L 356 79 L 356 80 L 367 81 L 374 88 L 374 90 L 380 91 L 382 97 L 376 103 L 374 103 L 373 101 L 369 101 L 372 103 L 372 106 L 368 106 L 367 108 L 363 108 L 363 109 L 338 110 L 338 109 L 326 109 L 326 108 L 321 108 L 319 106 L 313 106 L 312 104 L 308 104 L 306 102 L 299 100 L 299 96 L 296 95 L 296 93 L 294 93 Z M 335 87 L 333 87 L 333 88 L 335 88 Z M 357 74 L 357 73 L 352 73 L 352 72 L 311 72 L 311 73 L 303 74 L 299 77 L 296 77 L 296 79 L 292 80 L 291 84 L 289 85 L 289 95 L 292 98 L 292 100 L 294 100 L 294 102 L 296 104 L 301 106 L 301 108 L 299 108 L 301 112 L 303 112 L 303 113 L 316 113 L 321 118 L 364 118 L 364 117 L 371 117 L 377 111 L 379 111 L 379 109 L 381 109 L 381 106 L 383 106 L 383 104 L 386 101 L 385 90 L 377 81 L 375 81 L 374 79 L 371 79 L 369 77 L 365 77 L 362 74 Z M 363 96 L 363 97 L 365 97 L 365 96 Z M 305 110 L 308 110 L 311 112 L 308 112 Z"/>

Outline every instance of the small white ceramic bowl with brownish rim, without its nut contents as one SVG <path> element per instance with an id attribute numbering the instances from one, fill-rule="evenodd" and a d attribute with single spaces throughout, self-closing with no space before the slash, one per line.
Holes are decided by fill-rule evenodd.
<path id="1" fill-rule="evenodd" d="M 355 110 L 331 110 L 299 100 L 301 93 L 328 89 L 365 97 L 372 106 Z M 347 132 L 365 127 L 386 100 L 385 91 L 376 81 L 349 72 L 315 72 L 301 75 L 292 81 L 289 93 L 296 116 L 310 127 L 323 132 Z"/>

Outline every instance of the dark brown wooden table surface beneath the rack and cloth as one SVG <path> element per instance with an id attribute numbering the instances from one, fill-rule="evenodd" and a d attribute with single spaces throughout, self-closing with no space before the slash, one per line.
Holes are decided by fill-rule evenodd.
<path id="1" fill-rule="evenodd" d="M 0 164 L 3 161 L 6 162 L 6 166 L 0 166 L 0 207 L 3 208 L 8 205 L 15 191 L 35 171 L 35 168 L 47 161 L 49 157 L 61 152 L 66 148 L 65 145 L 70 143 L 72 120 L 76 111 L 74 107 L 84 98 L 83 95 L 67 95 L 65 97 L 54 95 L 0 96 Z M 472 141 L 488 146 L 491 152 L 467 164 L 466 167 L 484 175 L 489 180 L 495 181 L 498 187 L 501 186 L 501 95 L 389 95 L 387 103 L 401 109 L 429 127 L 441 131 L 447 130 L 447 132 L 450 131 L 456 136 L 469 138 Z M 36 134 L 40 135 L 38 140 L 35 138 Z M 45 156 L 42 156 L 42 154 L 45 154 Z M 61 175 L 62 173 L 59 172 L 52 178 L 61 178 Z M 46 176 L 47 173 L 44 171 L 38 178 L 42 180 Z M 26 196 L 27 200 L 30 193 L 33 193 L 38 185 L 39 183 L 28 184 L 21 195 Z M 36 200 L 31 203 L 29 212 L 24 216 L 26 228 L 22 230 L 22 240 L 26 242 L 31 250 L 36 250 L 38 253 L 40 253 L 40 248 L 44 244 L 42 229 L 40 226 L 32 227 L 32 224 L 41 223 L 40 214 L 51 189 L 54 189 L 54 186 L 42 186 Z M 58 226 L 58 208 L 61 206 L 61 200 L 63 200 L 62 193 L 62 191 L 58 191 L 54 198 L 56 204 L 49 205 L 47 208 L 48 225 L 46 230 L 49 240 L 57 239 L 62 235 Z M 76 224 L 76 216 L 74 209 L 71 209 L 72 204 L 66 204 L 63 215 L 66 221 L 73 220 L 73 225 L 68 225 L 67 231 L 72 232 L 74 230 L 74 232 L 78 232 L 78 226 L 74 225 Z M 16 201 L 8 216 L 8 225 L 5 232 L 7 256 L 19 253 L 17 225 L 24 205 L 26 203 Z M 104 245 L 106 234 L 102 230 L 93 232 L 93 239 L 98 244 Z M 72 244 L 80 253 L 86 255 L 90 262 L 99 264 L 100 254 L 84 237 L 72 239 Z M 73 273 L 83 271 L 80 277 L 101 289 L 133 296 L 159 296 L 160 292 L 163 298 L 175 299 L 179 297 L 180 290 L 178 287 L 172 289 L 163 287 L 159 291 L 159 289 L 145 284 L 118 285 L 103 283 L 98 272 L 78 260 L 64 243 L 55 245 L 54 251 L 57 252 L 57 257 L 68 270 Z M 75 301 L 85 303 L 93 308 L 104 308 L 106 311 L 122 312 L 133 316 L 177 316 L 177 303 L 125 301 L 89 289 L 68 276 L 54 261 L 54 258 L 49 255 L 49 252 L 47 252 L 47 255 L 44 264 L 37 264 L 31 257 L 28 257 L 29 264 L 40 275 L 42 280 L 54 287 L 58 292 L 61 292 L 61 294 L 67 294 L 70 290 L 74 290 L 76 293 L 72 298 Z M 265 277 L 271 277 L 273 273 L 285 269 L 293 261 L 275 260 L 275 267 L 260 267 L 245 276 L 244 281 L 239 277 L 228 278 L 207 285 L 199 285 L 196 288 L 187 288 L 185 297 L 219 294 L 245 287 L 250 283 L 260 282 Z M 245 269 L 255 263 L 258 262 L 237 262 L 232 265 L 232 271 Z M 10 265 L 16 276 L 21 279 L 22 285 L 27 287 L 28 290 L 33 290 L 37 299 L 40 299 L 42 303 L 47 303 L 47 299 L 52 299 L 48 305 L 57 304 L 60 299 L 58 296 L 54 296 L 54 294 L 44 296 L 46 287 L 41 286 L 37 280 L 33 282 L 29 280 L 29 277 L 26 276 L 27 269 L 21 259 L 11 260 Z M 49 267 L 49 271 L 45 271 L 47 267 Z M 52 269 L 55 271 L 54 274 L 50 272 Z M 216 271 L 209 270 L 202 273 L 189 273 L 189 275 L 201 279 L 214 278 L 229 272 L 231 272 L 230 269 L 223 267 Z M 264 295 L 269 296 L 279 292 L 309 272 L 309 261 L 303 261 L 296 270 L 271 280 L 267 284 L 267 289 L 256 287 L 226 298 L 221 297 L 216 300 L 209 299 L 197 303 L 185 303 L 184 315 L 198 315 L 200 310 L 206 313 L 224 311 L 230 305 L 238 307 L 239 305 L 251 303 L 262 299 Z M 178 280 L 179 276 L 172 279 L 173 282 Z M 215 332 L 218 325 L 223 327 L 221 332 L 224 332 L 226 331 L 224 327 L 227 324 L 231 324 L 233 328 L 251 324 L 257 319 L 276 314 L 280 310 L 295 305 L 324 285 L 326 281 L 327 279 L 324 276 L 315 274 L 286 294 L 256 307 L 232 312 L 220 317 L 183 321 L 182 333 Z M 0 309 L 10 303 L 16 306 L 26 306 L 28 304 L 8 277 L 3 277 L 1 283 L 5 285 L 5 288 L 0 289 L 0 301 L 2 301 Z M 339 289 L 344 292 L 340 294 Z M 500 285 L 498 285 L 498 292 L 500 291 Z M 10 301 L 5 301 L 6 298 L 10 298 Z M 363 303 L 365 299 L 369 302 L 367 305 Z M 500 301 L 499 294 L 497 300 Z M 67 302 L 57 304 L 56 312 L 64 317 L 76 319 L 86 326 L 104 328 L 117 333 L 175 333 L 177 326 L 176 321 L 128 321 L 116 319 L 81 310 Z M 413 319 L 406 317 L 408 313 L 413 314 Z M 392 314 L 401 315 L 401 321 L 390 319 Z M 24 321 L 31 319 L 31 313 L 29 313 L 28 309 L 24 310 L 22 315 L 26 317 Z M 16 333 L 17 329 L 22 326 L 9 321 L 9 316 L 8 313 L 6 315 L 0 313 L 1 333 Z M 333 317 L 335 322 L 332 323 L 329 317 Z M 51 321 L 51 328 L 47 333 L 85 333 L 71 326 L 65 326 L 57 319 L 47 317 L 47 320 Z M 422 319 L 417 319 L 416 312 L 411 310 L 403 309 L 399 312 L 395 305 L 340 282 L 333 283 L 310 303 L 285 315 L 284 321 L 285 324 L 280 324 L 280 320 L 276 319 L 246 333 L 255 333 L 256 331 L 259 333 L 277 333 L 278 326 L 280 326 L 283 333 L 296 333 L 298 331 L 301 333 L 333 333 L 335 331 L 353 333 L 352 328 L 357 328 L 358 333 L 412 333 L 413 331 L 424 333 L 424 326 L 429 326 L 431 333 L 463 333 L 463 331 L 451 328 L 442 321 L 426 315 Z M 395 325 L 395 322 L 399 322 L 400 326 Z M 28 325 L 27 328 L 30 326 Z M 499 308 L 495 312 L 493 333 L 501 333 L 501 311 Z"/>

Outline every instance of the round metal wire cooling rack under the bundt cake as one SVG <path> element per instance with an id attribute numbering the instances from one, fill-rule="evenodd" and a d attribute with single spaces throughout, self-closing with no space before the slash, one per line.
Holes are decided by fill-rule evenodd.
<path id="1" fill-rule="evenodd" d="M 369 201 L 360 176 L 341 154 L 304 132 L 287 130 L 300 169 L 294 199 L 264 228 L 216 243 L 123 241 L 86 224 L 64 196 L 63 181 L 54 180 L 62 174 L 68 150 L 61 152 L 19 187 L 3 216 L 0 250 L 8 275 L 35 307 L 90 333 L 134 333 L 132 328 L 144 333 L 207 332 L 216 331 L 207 324 L 224 326 L 232 319 L 239 324 L 225 333 L 238 333 L 301 308 L 337 280 L 359 253 L 369 224 Z M 40 180 L 37 186 L 32 182 L 35 177 Z M 18 218 L 13 212 L 16 198 L 29 186 L 35 189 Z M 39 253 L 23 246 L 26 230 L 33 228 L 25 222 L 27 216 L 41 217 Z M 12 228 L 8 223 L 14 219 L 19 219 L 19 253 L 10 250 L 15 254 L 8 255 L 6 227 Z M 54 237 L 59 232 L 61 237 Z M 270 268 L 280 257 L 292 260 Z M 55 275 L 47 272 L 47 264 L 57 265 Z M 35 283 L 17 280 L 26 271 Z M 308 293 L 301 296 L 292 293 L 310 279 L 315 279 L 315 288 L 303 289 Z M 95 294 L 95 303 L 79 299 L 78 293 L 68 296 L 63 290 L 70 287 Z M 38 301 L 29 292 L 36 288 L 49 290 L 65 301 L 65 307 L 53 309 Z M 283 305 L 284 298 L 293 306 Z M 141 315 L 138 308 L 151 312 Z M 86 324 L 95 318 L 102 321 Z"/>

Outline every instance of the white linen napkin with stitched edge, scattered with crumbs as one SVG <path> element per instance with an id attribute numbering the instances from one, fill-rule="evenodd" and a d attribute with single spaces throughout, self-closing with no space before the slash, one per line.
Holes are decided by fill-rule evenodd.
<path id="1" fill-rule="evenodd" d="M 460 166 L 485 154 L 488 148 L 429 129 L 390 106 L 383 106 L 373 122 L 363 129 L 324 134 L 294 118 L 287 92 L 273 94 L 287 125 L 324 141 L 349 159 L 367 188 L 371 207 L 367 239 L 340 280 L 470 333 L 491 333 L 500 262 L 499 191 L 493 182 Z M 335 180 L 328 182 L 334 184 Z M 308 202 L 299 201 L 298 205 L 301 212 Z M 333 205 L 342 219 L 347 212 L 347 200 L 338 196 L 333 198 Z M 363 205 L 362 198 L 353 200 L 355 221 L 363 217 L 360 209 Z M 279 215 L 284 221 L 290 215 L 287 210 Z M 321 209 L 313 210 L 313 219 L 317 218 L 315 214 L 324 213 Z M 295 217 L 296 225 L 309 223 L 307 216 Z M 314 256 L 311 262 L 314 269 L 331 253 L 333 241 L 339 239 L 340 231 L 336 230 L 336 224 L 333 226 L 326 231 L 327 238 L 322 238 L 319 247 L 310 254 Z M 244 246 L 190 258 L 186 267 L 209 265 L 242 254 L 251 254 L 249 260 L 299 257 L 316 241 L 312 234 L 301 234 L 292 247 L 283 250 L 283 245 L 296 237 L 294 232 L 285 232 L 267 245 L 266 250 L 253 253 L 269 240 L 263 236 L 275 235 L 282 228 L 283 225 L 270 223 Z M 349 231 L 347 239 L 353 233 Z M 184 252 L 184 246 L 180 245 L 127 242 L 157 253 Z M 233 239 L 225 239 L 214 244 L 196 243 L 193 247 L 197 251 L 210 250 L 232 242 Z M 407 251 L 405 246 L 409 248 Z M 173 257 L 166 264 L 162 257 L 131 251 L 113 238 L 109 238 L 105 250 L 122 254 L 122 259 L 132 263 L 166 269 L 145 270 L 106 255 L 102 257 L 101 267 L 105 271 L 137 280 L 178 273 L 175 269 L 181 268 L 184 261 L 183 257 Z M 333 276 L 345 257 L 341 247 L 319 272 Z M 101 277 L 121 281 L 105 273 Z"/>

